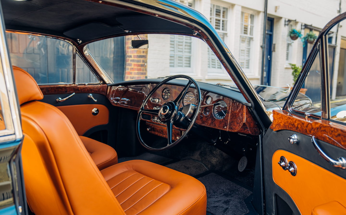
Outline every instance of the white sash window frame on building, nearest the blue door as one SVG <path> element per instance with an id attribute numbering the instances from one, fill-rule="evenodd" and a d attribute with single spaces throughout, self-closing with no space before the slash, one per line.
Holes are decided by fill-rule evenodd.
<path id="1" fill-rule="evenodd" d="M 251 33 L 249 35 L 245 35 L 243 34 L 243 13 L 249 13 L 250 16 L 253 15 L 253 24 L 251 24 L 251 22 L 249 23 L 249 31 L 251 31 L 251 26 L 253 27 L 252 28 L 252 35 Z M 242 67 L 242 70 L 244 71 L 244 73 L 248 76 L 248 77 L 252 77 L 252 76 L 255 76 L 256 74 L 254 74 L 253 72 L 253 68 L 254 68 L 254 61 L 255 61 L 255 58 L 254 58 L 254 54 L 255 54 L 255 46 L 254 46 L 254 35 L 255 35 L 255 30 L 256 29 L 256 13 L 254 11 L 251 11 L 251 10 L 246 10 L 244 8 L 242 8 L 242 11 L 240 13 L 240 34 L 239 34 L 239 65 L 240 65 L 240 53 L 241 53 L 241 49 L 242 49 L 242 46 L 241 46 L 241 37 L 248 37 L 250 38 L 251 40 L 251 44 L 250 44 L 250 57 L 249 57 L 249 68 L 243 68 Z M 246 58 L 244 58 L 246 59 Z"/>

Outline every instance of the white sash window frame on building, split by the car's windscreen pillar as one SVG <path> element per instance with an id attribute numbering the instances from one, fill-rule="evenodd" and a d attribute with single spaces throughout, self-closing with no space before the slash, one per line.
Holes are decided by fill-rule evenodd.
<path id="1" fill-rule="evenodd" d="M 219 6 L 221 7 L 221 16 L 220 17 L 215 17 L 215 6 Z M 227 9 L 227 15 L 226 18 L 222 18 L 222 13 L 223 13 L 223 8 Z M 221 2 L 210 2 L 210 11 L 212 11 L 212 14 L 210 14 L 210 23 L 211 25 L 215 28 L 215 19 L 220 19 L 221 23 L 220 23 L 220 27 L 222 28 L 222 23 L 224 21 L 226 21 L 226 30 L 223 29 L 216 29 L 216 31 L 218 32 L 218 34 L 221 37 L 221 34 L 224 34 L 224 38 L 223 40 L 226 41 L 228 39 L 228 29 L 229 27 L 229 22 L 230 22 L 230 6 L 225 4 L 225 3 L 221 3 Z M 221 37 L 222 38 L 222 37 Z M 209 48 L 209 47 L 208 47 Z M 209 48 L 210 49 L 210 48 Z M 208 57 L 208 65 L 210 65 L 211 63 L 211 57 L 215 57 L 215 59 L 218 61 L 218 63 L 220 63 L 221 68 L 211 68 L 208 66 L 208 70 L 207 70 L 207 74 L 208 74 L 208 79 L 210 79 L 211 77 L 213 79 L 218 78 L 218 77 L 228 77 L 228 73 L 226 72 L 226 69 L 224 68 L 224 66 L 222 65 L 222 63 L 220 62 L 219 58 L 217 58 L 215 56 L 215 53 L 210 49 L 209 50 L 209 54 L 207 55 Z"/>

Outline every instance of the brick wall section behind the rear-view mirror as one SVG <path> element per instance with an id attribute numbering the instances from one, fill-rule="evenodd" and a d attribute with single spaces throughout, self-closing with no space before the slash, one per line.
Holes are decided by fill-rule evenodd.
<path id="1" fill-rule="evenodd" d="M 147 35 L 140 35 L 142 40 L 148 39 Z M 125 81 L 144 79 L 147 77 L 148 49 L 132 49 L 131 40 L 138 40 L 137 35 L 126 36 L 126 69 Z"/>

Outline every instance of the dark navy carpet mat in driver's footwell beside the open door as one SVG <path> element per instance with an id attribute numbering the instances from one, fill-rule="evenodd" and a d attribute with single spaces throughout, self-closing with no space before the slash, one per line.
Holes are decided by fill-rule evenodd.
<path id="1" fill-rule="evenodd" d="M 215 174 L 198 178 L 207 189 L 207 211 L 214 215 L 244 215 L 249 212 L 244 199 L 251 191 Z"/>

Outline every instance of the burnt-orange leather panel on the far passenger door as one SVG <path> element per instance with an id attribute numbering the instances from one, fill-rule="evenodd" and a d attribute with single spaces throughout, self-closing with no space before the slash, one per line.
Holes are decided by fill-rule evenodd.
<path id="1" fill-rule="evenodd" d="M 57 106 L 70 119 L 79 135 L 98 125 L 108 124 L 109 110 L 104 105 L 66 105 Z M 98 109 L 98 114 L 93 115 L 92 110 Z"/>

